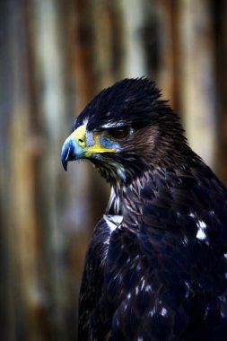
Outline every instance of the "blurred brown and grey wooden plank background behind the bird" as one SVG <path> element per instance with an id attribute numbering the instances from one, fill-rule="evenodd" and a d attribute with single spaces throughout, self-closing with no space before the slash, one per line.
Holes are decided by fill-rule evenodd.
<path id="1" fill-rule="evenodd" d="M 78 290 L 109 187 L 60 162 L 95 93 L 146 75 L 227 184 L 227 1 L 1 0 L 0 339 L 76 340 Z"/>

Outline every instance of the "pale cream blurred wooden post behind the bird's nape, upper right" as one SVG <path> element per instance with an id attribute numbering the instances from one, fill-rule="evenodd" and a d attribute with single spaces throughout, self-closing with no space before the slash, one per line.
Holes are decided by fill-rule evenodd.
<path id="1" fill-rule="evenodd" d="M 179 2 L 179 83 L 189 144 L 214 166 L 214 32 L 209 2 Z"/>

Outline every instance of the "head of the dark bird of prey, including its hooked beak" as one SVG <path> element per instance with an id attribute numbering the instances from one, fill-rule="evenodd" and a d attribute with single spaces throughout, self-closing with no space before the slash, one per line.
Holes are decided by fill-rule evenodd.
<path id="1" fill-rule="evenodd" d="M 180 162 L 187 148 L 184 132 L 160 97 L 146 78 L 101 91 L 74 120 L 61 153 L 65 170 L 69 161 L 88 159 L 110 183 L 128 183 L 151 167 Z"/>

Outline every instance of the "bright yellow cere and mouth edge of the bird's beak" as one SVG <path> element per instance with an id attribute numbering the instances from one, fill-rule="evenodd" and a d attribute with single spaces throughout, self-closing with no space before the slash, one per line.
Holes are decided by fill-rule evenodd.
<path id="1" fill-rule="evenodd" d="M 93 140 L 94 144 L 92 146 L 86 147 L 86 126 L 83 125 L 81 127 L 78 127 L 74 130 L 72 133 L 72 136 L 74 137 L 77 144 L 80 145 L 84 149 L 84 154 L 86 156 L 89 156 L 92 153 L 109 153 L 109 152 L 115 152 L 115 149 L 111 148 L 105 148 L 102 145 L 100 145 L 100 142 L 98 140 L 98 136 L 100 133 L 93 133 Z"/>

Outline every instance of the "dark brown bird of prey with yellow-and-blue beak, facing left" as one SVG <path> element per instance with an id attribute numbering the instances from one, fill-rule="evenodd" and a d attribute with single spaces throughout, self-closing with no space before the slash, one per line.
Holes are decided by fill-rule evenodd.
<path id="1" fill-rule="evenodd" d="M 62 163 L 109 181 L 87 251 L 79 340 L 227 340 L 227 189 L 155 83 L 125 79 L 74 120 Z"/>

